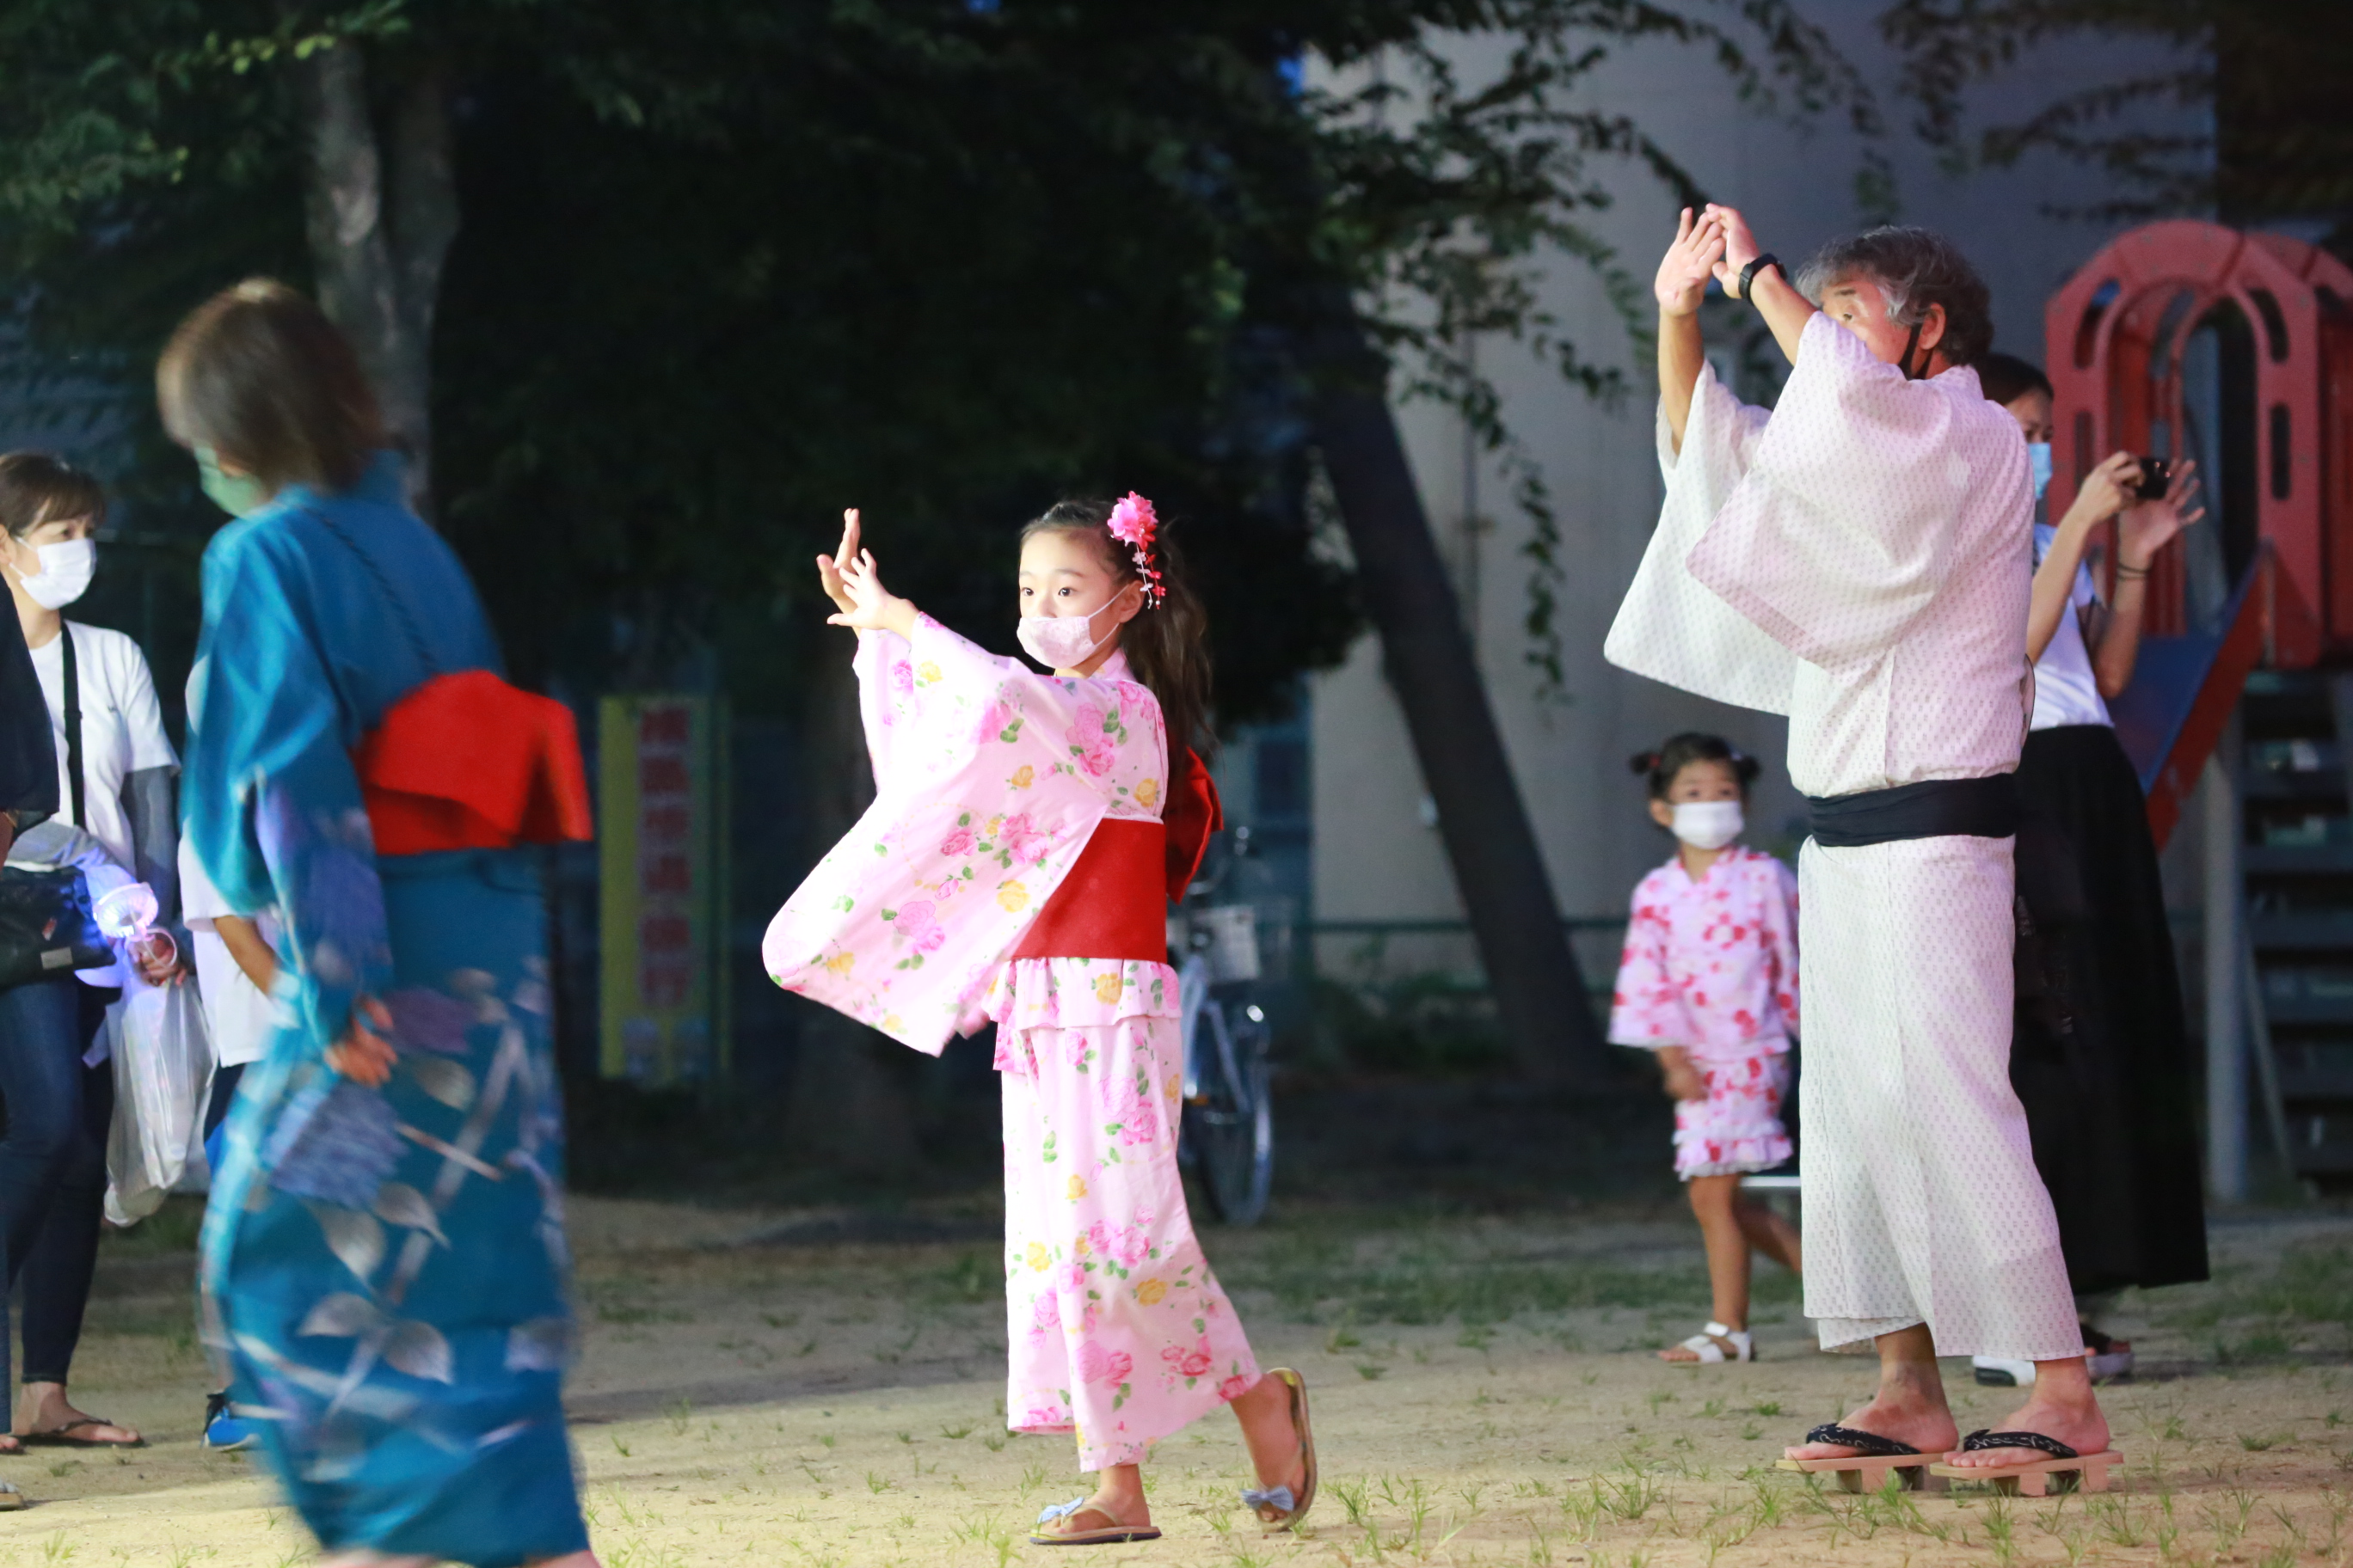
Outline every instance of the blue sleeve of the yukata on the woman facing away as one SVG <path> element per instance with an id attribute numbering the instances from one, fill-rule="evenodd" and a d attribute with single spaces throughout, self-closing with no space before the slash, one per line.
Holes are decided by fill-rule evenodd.
<path id="1" fill-rule="evenodd" d="M 391 983 L 384 884 L 353 719 L 301 597 L 301 548 L 256 522 L 205 557 L 205 632 L 191 682 L 186 816 L 195 858 L 242 914 L 275 905 L 292 959 L 282 994 L 313 1053 L 353 1001 Z"/>

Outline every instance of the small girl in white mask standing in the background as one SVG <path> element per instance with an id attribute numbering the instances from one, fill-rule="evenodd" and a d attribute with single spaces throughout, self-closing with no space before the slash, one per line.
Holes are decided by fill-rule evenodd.
<path id="1" fill-rule="evenodd" d="M 1755 1361 L 1751 1248 L 1798 1269 L 1798 1232 L 1741 1197 L 1741 1175 L 1791 1154 L 1781 1126 L 1798 1027 L 1798 879 L 1739 844 L 1755 757 L 1682 733 L 1633 759 L 1675 858 L 1633 891 L 1609 1039 L 1659 1053 L 1675 1100 L 1675 1175 L 1708 1246 L 1715 1319 L 1666 1361 Z"/>

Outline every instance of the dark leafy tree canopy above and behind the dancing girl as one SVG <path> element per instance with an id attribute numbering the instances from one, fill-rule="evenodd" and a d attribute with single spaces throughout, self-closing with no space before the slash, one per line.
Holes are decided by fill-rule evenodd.
<path id="1" fill-rule="evenodd" d="M 1471 80 L 1447 33 L 1508 49 Z M 1304 505 L 1308 346 L 1351 296 L 1400 388 L 1506 456 L 1558 684 L 1558 534 L 1471 343 L 1621 395 L 1537 268 L 1591 268 L 1633 324 L 1584 226 L 1602 174 L 1692 193 L 1586 80 L 1680 42 L 1760 103 L 1873 125 L 1786 0 L 0 0 L 0 268 L 38 343 L 136 388 L 205 292 L 306 280 L 287 66 L 332 40 L 381 106 L 456 85 L 433 473 L 518 668 L 722 677 L 753 710 L 838 658 L 807 562 L 845 503 L 896 590 L 1005 646 L 1019 522 L 1129 487 L 1202 578 L 1224 715 L 1280 708 L 1355 625 Z M 132 489 L 198 517 L 141 440 Z"/>

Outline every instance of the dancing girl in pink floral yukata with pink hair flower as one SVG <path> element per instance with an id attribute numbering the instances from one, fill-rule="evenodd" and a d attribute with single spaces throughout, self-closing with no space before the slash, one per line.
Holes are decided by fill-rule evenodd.
<path id="1" fill-rule="evenodd" d="M 1205 616 L 1153 508 L 1064 501 L 1021 531 L 1021 646 L 986 654 L 882 588 L 845 515 L 819 578 L 856 628 L 875 804 L 767 929 L 776 985 L 936 1056 L 998 1025 L 1014 1432 L 1073 1432 L 1089 1497 L 1038 1544 L 1155 1540 L 1151 1446 L 1233 1406 L 1268 1530 L 1315 1500 L 1306 1385 L 1259 1371 L 1184 1182 L 1167 900 L 1219 825 Z M 1172 766 L 1174 764 L 1174 766 Z"/>

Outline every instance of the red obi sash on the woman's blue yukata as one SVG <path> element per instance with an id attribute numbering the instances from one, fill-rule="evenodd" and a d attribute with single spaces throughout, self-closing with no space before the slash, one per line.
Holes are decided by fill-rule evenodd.
<path id="1" fill-rule="evenodd" d="M 379 856 L 595 837 L 572 710 L 489 670 L 409 691 L 351 762 Z"/>

